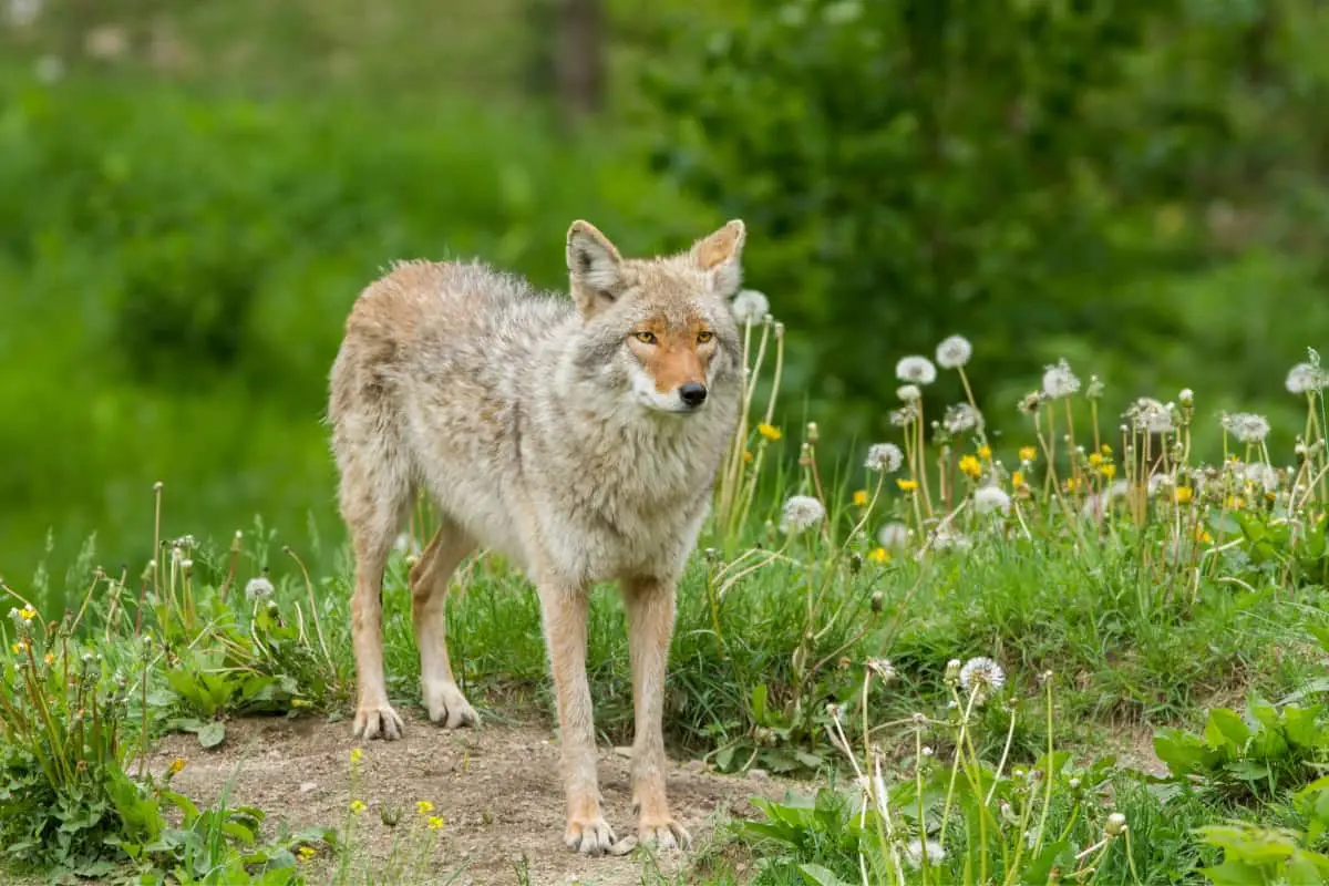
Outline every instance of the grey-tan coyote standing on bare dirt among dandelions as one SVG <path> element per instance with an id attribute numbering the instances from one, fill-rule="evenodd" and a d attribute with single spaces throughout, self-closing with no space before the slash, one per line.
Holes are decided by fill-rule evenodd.
<path id="1" fill-rule="evenodd" d="M 662 711 L 675 583 L 738 422 L 743 372 L 730 298 L 742 221 L 691 250 L 625 259 L 594 226 L 567 231 L 571 302 L 478 263 L 412 260 L 356 300 L 331 372 L 339 501 L 355 549 L 354 731 L 399 739 L 383 672 L 383 570 L 416 489 L 439 531 L 411 569 L 429 719 L 477 723 L 452 675 L 444 598 L 477 547 L 540 594 L 558 699 L 563 842 L 617 838 L 601 809 L 586 681 L 587 592 L 618 580 L 631 650 L 638 838 L 691 838 L 670 813 Z"/>

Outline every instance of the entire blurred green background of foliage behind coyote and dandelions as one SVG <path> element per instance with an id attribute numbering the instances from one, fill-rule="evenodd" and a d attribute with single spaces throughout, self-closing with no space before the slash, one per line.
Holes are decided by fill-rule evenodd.
<path id="1" fill-rule="evenodd" d="M 165 531 L 340 538 L 322 414 L 358 291 L 449 255 L 561 287 L 573 218 L 650 252 L 742 215 L 783 422 L 832 456 L 889 434 L 896 360 L 952 332 L 1011 445 L 1066 356 L 1108 428 L 1191 387 L 1199 445 L 1256 409 L 1288 452 L 1282 373 L 1329 345 L 1324 4 L 610 0 L 579 132 L 529 82 L 544 5 L 0 24 L 0 574 L 48 530 L 57 566 L 93 531 L 141 563 L 155 480 Z"/>

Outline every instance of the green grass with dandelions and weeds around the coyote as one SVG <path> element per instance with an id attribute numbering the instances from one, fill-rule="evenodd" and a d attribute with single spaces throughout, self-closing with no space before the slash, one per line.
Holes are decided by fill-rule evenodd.
<path id="1" fill-rule="evenodd" d="M 767 377 L 771 360 L 754 359 L 754 376 Z M 1005 456 L 1019 464 L 1017 482 L 981 432 L 920 449 L 916 422 L 905 428 L 898 473 L 820 464 L 825 441 L 811 426 L 799 433 L 760 424 L 772 389 L 763 387 L 767 393 L 750 404 L 712 522 L 679 588 L 667 731 L 678 756 L 704 756 L 723 770 L 832 777 L 832 786 L 815 802 L 767 806 L 764 824 L 722 832 L 696 875 L 734 882 L 740 857 L 752 861 L 760 883 L 857 882 L 860 865 L 874 871 L 873 882 L 893 882 L 898 865 L 908 882 L 1013 882 L 1059 866 L 1080 875 L 1063 882 L 1091 882 L 1096 870 L 1092 882 L 1199 883 L 1201 866 L 1219 861 L 1228 870 L 1268 862 L 1284 874 L 1318 863 L 1314 853 L 1326 846 L 1312 782 L 1329 764 L 1329 717 L 1314 704 L 1326 685 L 1321 643 L 1329 642 L 1320 399 L 1308 402 L 1310 456 L 1271 480 L 1268 493 L 1248 478 L 1263 472 L 1263 446 L 1204 468 L 1188 452 L 1189 425 L 1201 413 L 1176 412 L 1168 458 L 1155 472 L 1168 482 L 1150 495 L 1139 462 L 1120 454 L 1158 452 L 1158 440 L 1128 434 L 1118 452 L 1092 458 L 1073 456 L 1074 441 L 1051 450 L 1053 414 L 1087 412 L 1083 395 L 1066 406 L 1039 405 L 1027 440 L 1010 441 L 1034 448 Z M 1078 432 L 1088 434 L 1086 416 L 1078 418 Z M 801 453 L 797 465 L 781 468 L 793 453 Z M 1114 499 L 1103 521 L 1083 513 L 1090 495 L 1122 478 L 1138 494 Z M 925 487 L 906 489 L 920 481 Z M 975 493 L 989 485 L 1009 495 L 998 502 L 1007 510 L 979 513 Z M 145 571 L 140 559 L 124 573 L 93 574 L 85 557 L 70 571 L 73 587 L 49 578 L 8 584 L 16 604 L 36 606 L 3 628 L 16 654 L 5 664 L 11 716 L 0 731 L 12 863 L 122 869 L 132 863 L 128 853 L 154 869 L 177 851 L 161 842 L 161 809 L 181 801 L 130 774 L 145 743 L 186 729 L 211 744 L 227 717 L 243 713 L 348 709 L 344 546 L 315 534 L 286 547 L 262 525 L 233 545 L 195 542 L 185 534 L 199 527 L 175 517 L 177 494 L 163 487 L 159 510 L 125 515 L 152 527 L 141 545 L 159 551 L 157 570 Z M 803 531 L 784 526 L 781 513 L 799 495 L 828 511 L 819 518 L 812 506 Z M 427 510 L 413 519 L 417 543 L 429 519 Z M 876 534 L 888 522 L 908 525 L 908 539 L 882 547 Z M 304 561 L 332 566 L 307 584 Z M 419 697 L 407 563 L 393 557 L 384 590 L 389 693 L 400 705 Z M 246 600 L 246 583 L 263 570 L 276 592 Z M 482 712 L 489 704 L 500 713 L 513 705 L 548 712 L 534 588 L 492 555 L 469 562 L 459 584 L 448 618 L 464 689 Z M 64 599 L 74 603 L 61 622 Z M 979 656 L 1006 675 L 985 692 L 957 679 L 960 662 Z M 81 695 L 69 695 L 58 677 L 65 663 L 85 675 L 73 684 Z M 602 736 L 626 743 L 626 630 L 607 587 L 593 595 L 589 672 Z M 92 699 L 104 712 L 102 737 L 70 741 L 85 728 L 76 711 Z M 1247 699 L 1277 703 L 1264 732 L 1231 725 L 1243 720 Z M 1275 716 L 1259 713 L 1265 709 L 1253 704 L 1247 720 Z M 1104 753 L 1123 736 L 1164 727 L 1183 728 L 1159 744 L 1170 776 Z M 1197 737 L 1185 739 L 1184 729 Z M 924 747 L 930 753 L 920 753 Z M 872 809 L 863 812 L 864 793 L 849 776 L 878 766 L 889 801 L 877 806 L 869 792 Z M 1034 770 L 1039 776 L 1030 777 Z M 1124 816 L 1124 830 L 1112 813 Z M 198 814 L 199 826 L 214 828 L 231 813 Z M 1197 830 L 1231 818 L 1292 828 L 1293 836 Z M 245 818 L 246 828 L 256 824 Z M 56 843 L 43 840 L 52 828 L 62 834 Z M 121 849 L 105 842 L 106 833 Z M 909 873 L 908 845 L 924 833 L 945 847 L 944 873 Z M 1290 841 L 1288 858 L 1259 857 L 1259 845 L 1277 840 Z M 280 877 L 295 875 L 298 863 L 280 863 L 311 841 L 328 851 L 339 845 L 336 832 L 276 838 L 266 861 L 250 867 L 276 865 L 287 870 Z M 209 865 L 253 851 L 213 838 L 205 847 Z M 1255 854 L 1243 861 L 1243 853 Z"/>

